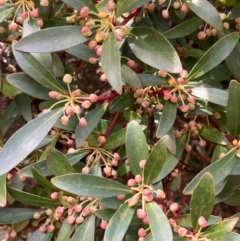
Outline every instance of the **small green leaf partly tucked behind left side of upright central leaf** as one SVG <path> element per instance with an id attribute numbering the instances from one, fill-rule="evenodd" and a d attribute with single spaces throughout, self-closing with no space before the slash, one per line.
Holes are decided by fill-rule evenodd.
<path id="1" fill-rule="evenodd" d="M 125 143 L 127 129 L 123 128 L 107 138 L 107 141 L 104 143 L 104 148 L 114 149 Z"/>

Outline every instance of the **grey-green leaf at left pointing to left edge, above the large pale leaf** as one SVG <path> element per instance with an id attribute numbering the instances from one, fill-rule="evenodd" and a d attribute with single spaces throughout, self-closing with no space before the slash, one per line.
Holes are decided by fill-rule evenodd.
<path id="1" fill-rule="evenodd" d="M 50 89 L 40 85 L 25 73 L 13 73 L 7 76 L 7 81 L 22 92 L 43 100 L 51 100 Z"/>

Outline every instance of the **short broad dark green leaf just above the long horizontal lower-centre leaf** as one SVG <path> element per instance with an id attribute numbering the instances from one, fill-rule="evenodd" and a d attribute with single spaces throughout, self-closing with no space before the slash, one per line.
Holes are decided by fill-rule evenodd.
<path id="1" fill-rule="evenodd" d="M 46 164 L 48 170 L 52 172 L 54 176 L 76 172 L 66 156 L 53 147 L 48 147 L 46 151 Z"/>

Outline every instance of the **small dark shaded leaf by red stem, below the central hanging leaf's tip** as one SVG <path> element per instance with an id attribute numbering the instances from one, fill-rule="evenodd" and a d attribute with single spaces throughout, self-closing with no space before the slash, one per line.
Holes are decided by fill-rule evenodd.
<path id="1" fill-rule="evenodd" d="M 117 112 L 120 110 L 124 110 L 131 106 L 136 99 L 133 97 L 132 93 L 124 93 L 122 95 L 117 96 L 110 104 L 110 111 Z"/>

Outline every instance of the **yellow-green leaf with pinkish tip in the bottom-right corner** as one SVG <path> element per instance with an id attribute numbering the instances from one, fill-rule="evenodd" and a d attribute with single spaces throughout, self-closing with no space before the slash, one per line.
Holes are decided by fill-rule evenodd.
<path id="1" fill-rule="evenodd" d="M 233 230 L 238 219 L 239 218 L 224 219 L 222 222 L 214 224 L 203 233 L 203 237 L 213 240 L 223 239 Z"/>

